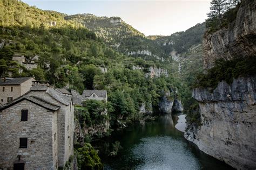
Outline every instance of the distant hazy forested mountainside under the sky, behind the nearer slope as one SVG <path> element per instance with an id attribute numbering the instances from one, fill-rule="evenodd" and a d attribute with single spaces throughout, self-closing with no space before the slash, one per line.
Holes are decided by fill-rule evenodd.
<path id="1" fill-rule="evenodd" d="M 141 56 L 155 62 L 169 61 L 169 55 L 156 41 L 146 38 L 119 17 L 97 17 L 84 13 L 66 16 L 65 19 L 85 25 L 95 31 L 97 37 L 126 55 Z"/>

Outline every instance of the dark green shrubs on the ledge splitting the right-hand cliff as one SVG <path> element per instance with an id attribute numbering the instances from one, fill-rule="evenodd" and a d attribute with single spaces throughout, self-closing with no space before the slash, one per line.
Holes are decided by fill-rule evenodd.
<path id="1" fill-rule="evenodd" d="M 256 74 L 255 56 L 244 59 L 232 60 L 220 59 L 215 61 L 214 67 L 207 70 L 206 74 L 199 74 L 193 87 L 217 87 L 218 83 L 225 81 L 228 84 L 239 76 L 251 76 Z"/>

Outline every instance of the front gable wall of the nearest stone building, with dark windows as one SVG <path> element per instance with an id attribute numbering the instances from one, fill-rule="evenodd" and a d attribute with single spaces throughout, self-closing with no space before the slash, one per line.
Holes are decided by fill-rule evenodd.
<path id="1" fill-rule="evenodd" d="M 28 109 L 28 121 L 21 121 L 21 110 Z M 51 169 L 52 116 L 57 113 L 23 100 L 0 112 L 0 168 L 13 168 L 17 155 L 25 169 Z M 42 121 L 43 120 L 43 121 Z M 19 148 L 19 138 L 28 138 L 28 148 Z"/>

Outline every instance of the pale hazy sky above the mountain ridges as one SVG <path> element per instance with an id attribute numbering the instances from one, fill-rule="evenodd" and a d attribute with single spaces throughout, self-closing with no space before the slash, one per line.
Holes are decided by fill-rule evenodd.
<path id="1" fill-rule="evenodd" d="M 185 31 L 207 18 L 211 0 L 23 0 L 43 10 L 118 16 L 135 29 L 149 35 L 170 35 Z"/>

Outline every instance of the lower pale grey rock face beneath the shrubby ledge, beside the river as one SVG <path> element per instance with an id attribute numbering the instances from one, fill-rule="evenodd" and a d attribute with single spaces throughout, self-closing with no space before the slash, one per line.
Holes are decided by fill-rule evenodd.
<path id="1" fill-rule="evenodd" d="M 210 93 L 193 89 L 202 125 L 185 137 L 200 150 L 239 168 L 256 168 L 256 76 L 225 82 Z"/>

